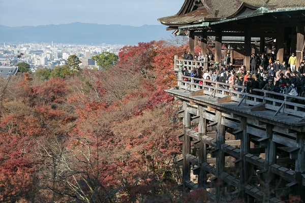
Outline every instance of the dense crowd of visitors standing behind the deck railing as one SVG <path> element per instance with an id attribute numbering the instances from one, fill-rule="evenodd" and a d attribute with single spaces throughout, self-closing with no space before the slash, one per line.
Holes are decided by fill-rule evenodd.
<path id="1" fill-rule="evenodd" d="M 186 53 L 185 53 L 186 54 Z M 186 54 L 190 55 L 190 53 Z M 201 53 L 198 56 L 201 58 Z M 224 65 L 218 71 L 215 66 L 214 69 L 203 70 L 202 66 L 197 65 L 191 70 L 184 67 L 182 74 L 184 76 L 191 76 L 194 78 L 210 80 L 213 82 L 222 82 L 228 84 L 236 84 L 245 86 L 246 88 L 237 88 L 235 91 L 246 91 L 247 93 L 261 95 L 262 92 L 254 89 L 267 90 L 293 96 L 305 97 L 305 61 L 302 60 L 300 65 L 296 67 L 296 57 L 294 53 L 285 55 L 284 60 L 280 62 L 275 60 L 273 54 L 265 55 L 252 54 L 250 70 L 246 71 L 246 66 L 241 65 L 235 73 L 235 67 L 230 61 L 230 55 L 224 58 Z M 188 80 L 185 78 L 184 80 Z M 195 82 L 203 84 L 202 81 L 194 79 Z M 212 85 L 210 82 L 205 82 L 206 85 Z"/>

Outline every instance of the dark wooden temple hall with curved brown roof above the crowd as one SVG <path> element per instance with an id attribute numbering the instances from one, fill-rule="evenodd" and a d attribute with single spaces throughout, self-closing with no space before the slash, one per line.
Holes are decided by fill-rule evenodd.
<path id="1" fill-rule="evenodd" d="M 274 50 L 281 62 L 285 53 L 295 53 L 296 66 L 303 57 L 304 1 L 186 0 L 176 15 L 158 20 L 167 29 L 176 30 L 176 35 L 187 33 L 193 55 L 195 36 L 201 39 L 202 53 L 207 51 L 207 37 L 215 37 L 215 61 L 222 60 L 224 37 L 242 37 L 242 44 L 235 51 L 248 70 L 251 53 L 264 52 L 265 47 L 268 52 Z M 258 49 L 251 43 L 252 38 L 260 38 Z M 269 47 L 273 43 L 275 47 Z"/>

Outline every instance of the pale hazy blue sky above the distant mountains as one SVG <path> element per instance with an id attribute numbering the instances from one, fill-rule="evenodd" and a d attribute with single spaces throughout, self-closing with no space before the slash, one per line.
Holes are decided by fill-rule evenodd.
<path id="1" fill-rule="evenodd" d="M 184 0 L 0 0 L 0 25 L 156 25 L 160 24 L 158 18 L 176 14 L 183 3 Z"/>

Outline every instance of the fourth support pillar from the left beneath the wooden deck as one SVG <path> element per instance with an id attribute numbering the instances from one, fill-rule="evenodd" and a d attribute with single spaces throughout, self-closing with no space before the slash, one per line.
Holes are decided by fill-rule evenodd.
<path id="1" fill-rule="evenodd" d="M 245 198 L 246 202 L 247 202 L 247 194 L 245 191 L 245 185 L 248 184 L 248 180 L 249 180 L 249 170 L 250 170 L 250 166 L 248 164 L 248 162 L 245 159 L 245 154 L 250 152 L 250 138 L 247 134 L 247 118 L 246 117 L 241 117 L 240 120 L 240 128 L 242 129 L 242 139 L 240 140 L 240 157 L 242 159 L 242 170 L 240 171 L 240 179 L 239 179 L 239 190 L 240 190 L 240 195 L 241 198 Z"/>

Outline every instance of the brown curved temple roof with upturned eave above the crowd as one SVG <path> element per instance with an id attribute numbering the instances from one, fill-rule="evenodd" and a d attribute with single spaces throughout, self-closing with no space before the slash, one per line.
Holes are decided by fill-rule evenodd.
<path id="1" fill-rule="evenodd" d="M 159 18 L 158 20 L 162 24 L 179 26 L 234 18 L 241 10 L 243 12 L 247 11 L 248 16 L 260 8 L 264 8 L 264 11 L 267 12 L 297 8 L 305 10 L 305 1 L 300 0 L 201 0 L 202 4 L 198 8 L 194 7 L 196 1 L 186 0 L 176 15 Z"/>

